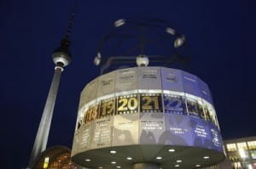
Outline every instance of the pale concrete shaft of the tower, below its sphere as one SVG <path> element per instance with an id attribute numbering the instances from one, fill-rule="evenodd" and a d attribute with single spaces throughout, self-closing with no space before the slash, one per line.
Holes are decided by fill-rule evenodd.
<path id="1" fill-rule="evenodd" d="M 40 155 L 45 149 L 49 137 L 49 128 L 51 124 L 51 119 L 53 115 L 53 110 L 55 107 L 55 99 L 58 92 L 59 84 L 61 81 L 61 71 L 63 68 L 61 66 L 55 66 L 55 75 L 53 76 L 48 97 L 44 105 L 44 112 L 38 127 L 37 136 L 32 148 L 32 153 L 29 161 L 29 168 L 32 168 L 38 155 Z"/>

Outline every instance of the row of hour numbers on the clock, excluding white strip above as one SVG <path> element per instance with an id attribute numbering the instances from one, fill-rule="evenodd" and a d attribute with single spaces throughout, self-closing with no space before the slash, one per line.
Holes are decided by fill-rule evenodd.
<path id="1" fill-rule="evenodd" d="M 162 101 L 163 100 L 163 101 Z M 86 106 L 86 105 L 85 105 Z M 132 113 L 167 113 L 189 115 L 210 121 L 218 126 L 215 112 L 210 104 L 202 104 L 195 98 L 167 93 L 133 93 L 110 99 L 102 99 L 84 110 L 83 124 L 112 115 Z M 79 122 L 79 127 L 81 126 Z"/>

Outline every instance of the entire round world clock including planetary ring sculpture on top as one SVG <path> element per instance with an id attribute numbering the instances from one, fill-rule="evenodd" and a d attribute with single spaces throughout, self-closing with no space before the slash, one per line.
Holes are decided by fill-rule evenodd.
<path id="1" fill-rule="evenodd" d="M 164 24 L 155 19 L 117 20 L 117 34 L 103 38 L 106 43 L 119 35 L 127 37 L 119 28 L 127 32 L 154 27 L 170 36 L 174 53 L 145 54 L 151 41 L 141 31 L 137 56 L 104 59 L 102 47 L 97 51 L 95 64 L 102 64 L 102 75 L 89 82 L 80 96 L 72 149 L 75 163 L 89 168 L 165 169 L 200 168 L 224 160 L 207 83 L 187 71 L 162 66 L 188 60 L 177 53 L 185 46 L 185 37 Z M 115 64 L 135 63 L 104 74 Z"/>

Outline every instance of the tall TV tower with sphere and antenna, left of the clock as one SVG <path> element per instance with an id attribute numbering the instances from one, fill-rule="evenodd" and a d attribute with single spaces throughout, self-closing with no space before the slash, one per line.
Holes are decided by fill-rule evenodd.
<path id="1" fill-rule="evenodd" d="M 69 36 L 71 34 L 71 29 L 74 23 L 74 15 L 74 13 L 71 14 L 71 19 L 67 27 L 67 33 L 66 36 L 61 40 L 61 46 L 56 48 L 52 54 L 52 59 L 55 63 L 55 75 L 53 76 L 51 85 L 49 87 L 48 97 L 44 105 L 44 112 L 38 127 L 38 132 L 32 148 L 28 168 L 33 167 L 33 164 L 38 158 L 38 155 L 40 155 L 46 149 L 49 136 L 49 128 L 55 107 L 55 99 L 61 81 L 61 73 L 64 70 L 64 67 L 69 65 L 72 61 L 72 56 L 69 52 Z"/>

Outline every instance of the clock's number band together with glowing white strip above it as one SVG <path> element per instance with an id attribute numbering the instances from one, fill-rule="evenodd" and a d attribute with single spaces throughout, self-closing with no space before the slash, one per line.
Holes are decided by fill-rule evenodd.
<path id="1" fill-rule="evenodd" d="M 108 94 L 84 104 L 79 110 L 77 121 L 79 124 L 76 128 L 78 129 L 87 122 L 109 115 L 138 112 L 189 115 L 204 121 L 210 121 L 218 127 L 214 107 L 206 99 L 189 93 L 169 90 L 138 89 Z M 88 117 L 89 113 L 90 116 Z M 86 114 L 89 120 L 84 121 L 84 115 Z"/>

